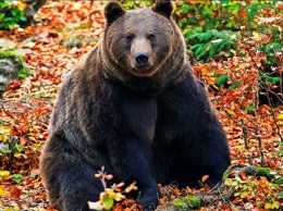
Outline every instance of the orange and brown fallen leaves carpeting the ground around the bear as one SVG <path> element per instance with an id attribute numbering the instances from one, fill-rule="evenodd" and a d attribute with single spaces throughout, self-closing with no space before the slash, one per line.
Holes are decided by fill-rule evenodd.
<path id="1" fill-rule="evenodd" d="M 4 137 L 9 138 L 14 141 L 15 150 L 13 158 L 9 153 L 0 154 L 1 211 L 54 210 L 52 204 L 47 202 L 38 170 L 38 158 L 48 136 L 48 120 L 60 83 L 65 73 L 72 70 L 102 36 L 103 7 L 103 3 L 96 1 L 48 1 L 36 16 L 37 24 L 24 29 L 0 32 L 0 39 L 4 38 L 7 45 L 2 46 L 1 50 L 15 47 L 19 52 L 25 54 L 24 62 L 33 71 L 32 76 L 11 82 L 0 98 L 0 117 L 5 123 L 1 123 L 0 129 L 7 132 L 0 134 L 0 141 L 3 141 Z M 223 65 L 223 63 L 214 64 Z M 206 64 L 199 63 L 194 66 L 194 71 L 198 75 L 199 70 L 204 71 L 206 67 Z M 235 96 L 209 87 L 211 101 L 227 134 L 232 165 L 264 166 L 270 167 L 270 174 L 282 175 L 283 161 L 275 153 L 281 147 L 280 138 L 271 113 L 274 113 L 280 122 L 283 108 L 271 110 L 262 104 L 256 115 L 250 112 L 238 114 L 233 110 L 237 103 L 233 101 Z M 241 91 L 244 90 L 238 90 L 239 94 Z M 245 122 L 243 125 L 241 120 Z M 245 128 L 260 128 L 261 134 L 251 136 Z M 245 147 L 245 138 L 248 139 L 248 147 Z M 5 174 L 4 170 L 8 166 L 9 173 Z M 267 210 L 267 204 L 278 209 L 276 204 L 282 206 L 283 200 L 274 196 L 282 191 L 282 185 L 275 186 L 274 179 L 276 176 L 256 177 L 244 172 L 238 184 L 232 185 L 235 194 L 233 193 L 234 196 L 230 200 L 212 200 L 201 204 L 200 210 Z M 164 198 L 160 201 L 168 203 L 180 196 L 209 191 L 209 188 L 204 186 L 201 190 L 189 188 L 179 190 L 173 186 L 167 186 L 162 187 L 162 191 Z M 127 201 L 123 203 L 123 208 L 121 206 L 114 208 L 114 210 L 126 209 L 137 210 L 138 207 Z"/>

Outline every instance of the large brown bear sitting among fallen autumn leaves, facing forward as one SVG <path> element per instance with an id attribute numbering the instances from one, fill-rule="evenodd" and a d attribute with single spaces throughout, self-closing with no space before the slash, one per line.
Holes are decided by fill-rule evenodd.
<path id="1" fill-rule="evenodd" d="M 65 78 L 50 122 L 40 170 L 51 203 L 89 210 L 113 183 L 136 182 L 137 202 L 155 210 L 158 183 L 198 187 L 222 179 L 230 151 L 205 86 L 192 73 L 172 2 L 104 9 L 103 38 Z"/>

